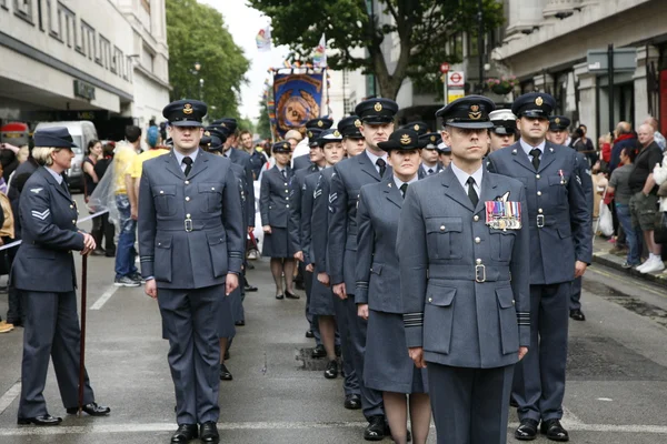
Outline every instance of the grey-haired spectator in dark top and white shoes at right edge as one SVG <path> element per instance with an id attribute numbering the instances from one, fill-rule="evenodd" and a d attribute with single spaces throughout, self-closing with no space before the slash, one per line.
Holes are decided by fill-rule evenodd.
<path id="1" fill-rule="evenodd" d="M 648 248 L 648 260 L 637 266 L 640 273 L 653 273 L 665 270 L 660 258 L 663 248 L 654 240 L 655 219 L 658 208 L 658 186 L 653 175 L 656 164 L 663 162 L 663 150 L 654 140 L 653 128 L 645 123 L 637 131 L 641 151 L 635 158 L 635 167 L 630 172 L 629 186 L 630 216 L 635 230 L 644 232 L 644 241 Z"/>

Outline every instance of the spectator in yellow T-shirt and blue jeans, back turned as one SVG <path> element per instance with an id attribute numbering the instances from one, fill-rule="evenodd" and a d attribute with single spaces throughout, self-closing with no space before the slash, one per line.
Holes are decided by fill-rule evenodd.
<path id="1" fill-rule="evenodd" d="M 141 145 L 141 129 L 136 125 L 126 128 L 126 141 L 117 147 L 113 157 L 116 174 L 116 206 L 119 213 L 120 234 L 116 249 L 116 286 L 139 286 L 141 278 L 135 266 L 137 251 L 137 194 L 132 186 L 131 167 Z"/>

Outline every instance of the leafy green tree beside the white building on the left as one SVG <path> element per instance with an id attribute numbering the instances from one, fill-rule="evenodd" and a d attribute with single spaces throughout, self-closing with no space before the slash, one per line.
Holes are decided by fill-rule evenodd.
<path id="1" fill-rule="evenodd" d="M 222 14 L 196 0 L 167 0 L 166 6 L 171 100 L 203 100 L 209 120 L 239 118 L 240 89 L 250 62 Z"/>

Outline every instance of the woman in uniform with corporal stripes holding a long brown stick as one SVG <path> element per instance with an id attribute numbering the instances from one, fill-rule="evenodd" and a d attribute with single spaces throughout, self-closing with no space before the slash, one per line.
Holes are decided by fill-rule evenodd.
<path id="1" fill-rule="evenodd" d="M 89 254 L 93 238 L 77 228 L 78 211 L 63 182 L 71 167 L 72 138 L 66 128 L 34 133 L 32 157 L 40 168 L 28 179 L 20 200 L 22 240 L 14 259 L 11 281 L 26 302 L 23 362 L 19 424 L 58 425 L 42 394 L 49 359 L 67 413 L 78 412 L 79 347 L 81 331 L 77 315 L 77 275 L 72 250 Z M 39 273 L 39 279 L 36 278 Z M 88 374 L 83 390 L 83 412 L 107 415 L 98 405 Z"/>

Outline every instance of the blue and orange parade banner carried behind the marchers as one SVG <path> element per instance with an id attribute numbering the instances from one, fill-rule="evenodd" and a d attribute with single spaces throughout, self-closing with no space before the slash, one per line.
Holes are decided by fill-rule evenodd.
<path id="1" fill-rule="evenodd" d="M 295 74 L 273 74 L 275 119 L 271 122 L 279 138 L 320 117 L 325 70 Z"/>

